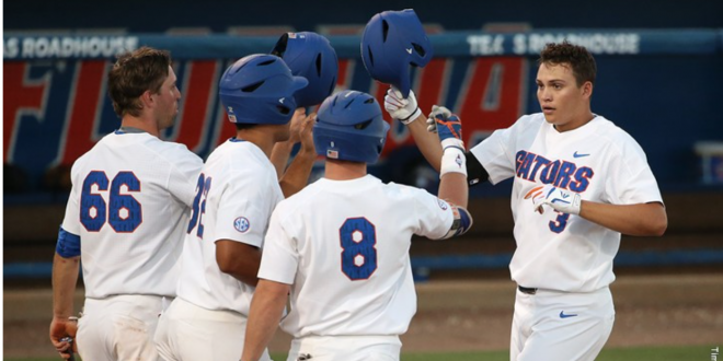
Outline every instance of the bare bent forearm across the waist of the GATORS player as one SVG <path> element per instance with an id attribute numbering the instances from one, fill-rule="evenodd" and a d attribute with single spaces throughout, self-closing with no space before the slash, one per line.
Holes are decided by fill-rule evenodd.
<path id="1" fill-rule="evenodd" d="M 668 226 L 665 207 L 658 202 L 608 205 L 583 200 L 579 216 L 628 235 L 661 236 Z"/>

